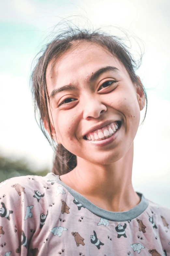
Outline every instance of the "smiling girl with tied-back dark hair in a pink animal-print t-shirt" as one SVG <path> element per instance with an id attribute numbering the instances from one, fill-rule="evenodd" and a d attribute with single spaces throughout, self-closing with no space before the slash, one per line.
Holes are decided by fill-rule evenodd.
<path id="1" fill-rule="evenodd" d="M 131 181 L 147 107 L 134 69 L 124 44 L 100 30 L 70 28 L 47 45 L 32 92 L 54 167 L 0 184 L 0 255 L 170 255 L 170 209 Z"/>

